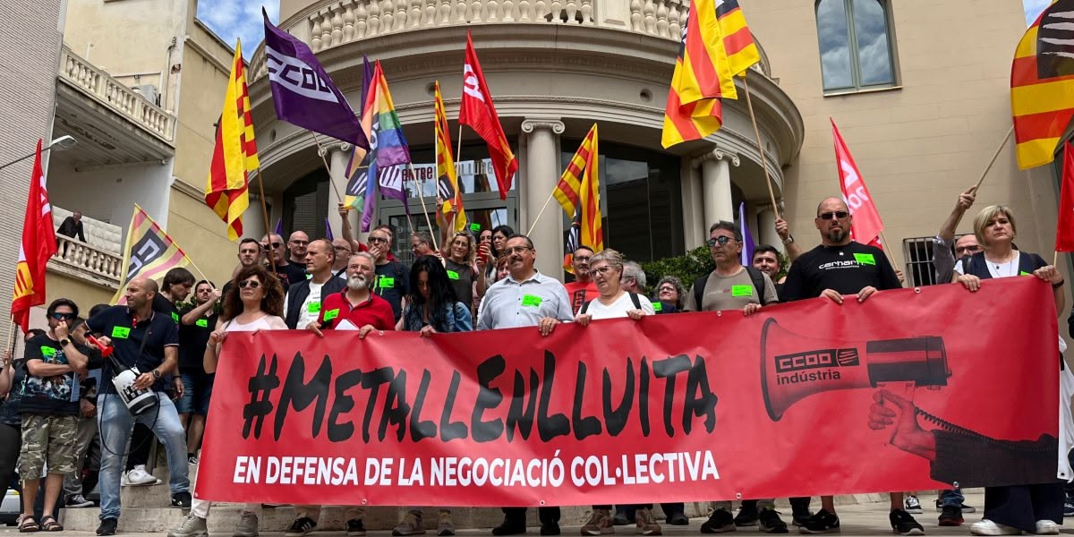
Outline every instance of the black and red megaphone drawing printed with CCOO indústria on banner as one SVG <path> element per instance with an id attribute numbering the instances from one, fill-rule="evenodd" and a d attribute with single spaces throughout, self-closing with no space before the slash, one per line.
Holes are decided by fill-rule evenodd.
<path id="1" fill-rule="evenodd" d="M 760 330 L 760 391 L 772 421 L 796 402 L 829 390 L 913 382 L 939 389 L 950 368 L 940 336 L 853 342 L 792 333 L 768 319 Z"/>

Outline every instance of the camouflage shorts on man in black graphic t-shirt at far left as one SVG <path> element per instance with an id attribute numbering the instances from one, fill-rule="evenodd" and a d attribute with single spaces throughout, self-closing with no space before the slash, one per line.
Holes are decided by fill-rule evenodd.
<path id="1" fill-rule="evenodd" d="M 23 481 L 41 479 L 46 463 L 49 474 L 74 474 L 77 444 L 76 417 L 24 413 L 19 478 Z"/>

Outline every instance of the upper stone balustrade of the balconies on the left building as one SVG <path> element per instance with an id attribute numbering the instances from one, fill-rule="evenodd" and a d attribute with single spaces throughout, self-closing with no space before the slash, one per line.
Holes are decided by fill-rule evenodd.
<path id="1" fill-rule="evenodd" d="M 79 58 L 67 46 L 60 52 L 59 77 L 161 140 L 173 142 L 175 116 Z"/>

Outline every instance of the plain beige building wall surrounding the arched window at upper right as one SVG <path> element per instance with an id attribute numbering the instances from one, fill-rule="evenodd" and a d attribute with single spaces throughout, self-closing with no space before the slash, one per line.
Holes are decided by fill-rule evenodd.
<path id="1" fill-rule="evenodd" d="M 819 243 L 816 204 L 839 195 L 829 117 L 839 126 L 884 219 L 897 266 L 902 241 L 933 236 L 973 186 L 1011 126 L 1010 73 L 1026 30 L 1021 2 L 900 0 L 891 4 L 899 87 L 825 97 L 815 2 L 742 2 L 757 39 L 806 125 L 785 170 L 786 211 L 802 247 Z M 1020 172 L 1008 142 L 959 226 L 981 207 L 1010 205 L 1018 246 L 1051 259 L 1056 192 L 1047 166 Z"/>

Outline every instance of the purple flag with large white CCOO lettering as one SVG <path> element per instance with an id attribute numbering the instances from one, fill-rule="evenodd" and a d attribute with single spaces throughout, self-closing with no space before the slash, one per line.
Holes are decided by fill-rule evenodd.
<path id="1" fill-rule="evenodd" d="M 276 117 L 369 148 L 362 124 L 305 43 L 265 20 L 265 68 Z"/>

